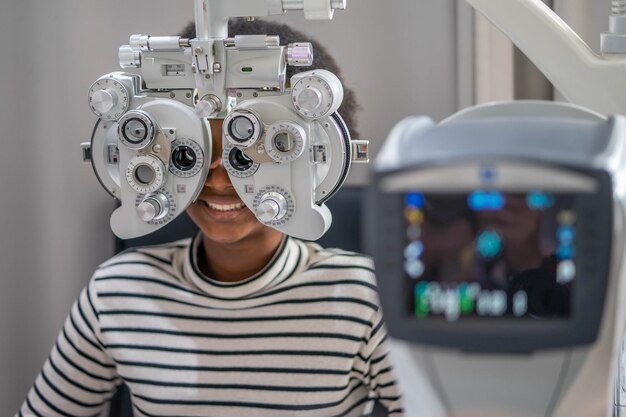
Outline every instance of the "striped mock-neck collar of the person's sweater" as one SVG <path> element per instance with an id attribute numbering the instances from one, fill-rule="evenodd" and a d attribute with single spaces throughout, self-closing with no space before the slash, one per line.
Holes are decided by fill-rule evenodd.
<path id="1" fill-rule="evenodd" d="M 198 233 L 189 245 L 184 261 L 185 275 L 201 291 L 224 299 L 241 299 L 272 288 L 293 275 L 303 265 L 300 242 L 285 236 L 269 263 L 253 276 L 237 282 L 217 281 L 206 276 L 198 267 L 202 250 L 202 234 Z"/>

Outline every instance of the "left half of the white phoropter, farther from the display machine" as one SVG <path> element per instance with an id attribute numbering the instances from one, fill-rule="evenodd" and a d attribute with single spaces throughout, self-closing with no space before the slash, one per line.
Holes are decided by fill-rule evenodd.
<path id="1" fill-rule="evenodd" d="M 111 216 L 121 238 L 150 233 L 180 214 L 211 160 L 210 129 L 190 107 L 191 92 L 143 92 L 140 83 L 111 73 L 89 94 L 100 120 L 84 149 L 102 186 L 121 202 Z"/>

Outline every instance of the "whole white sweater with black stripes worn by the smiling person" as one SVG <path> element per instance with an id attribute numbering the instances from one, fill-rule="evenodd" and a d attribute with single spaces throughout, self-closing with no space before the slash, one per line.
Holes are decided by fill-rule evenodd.
<path id="1" fill-rule="evenodd" d="M 122 382 L 136 416 L 361 416 L 374 399 L 402 415 L 369 258 L 285 238 L 224 283 L 201 242 L 102 264 L 18 415 L 97 415 Z"/>

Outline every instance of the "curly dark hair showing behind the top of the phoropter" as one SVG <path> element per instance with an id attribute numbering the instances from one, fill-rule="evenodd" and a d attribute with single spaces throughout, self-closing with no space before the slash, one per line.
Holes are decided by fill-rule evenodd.
<path id="1" fill-rule="evenodd" d="M 350 135 L 352 137 L 359 137 L 357 132 L 356 112 L 359 110 L 359 105 L 356 100 L 354 91 L 346 87 L 341 75 L 341 69 L 335 59 L 330 55 L 328 50 L 319 42 L 310 39 L 309 36 L 304 33 L 294 30 L 291 27 L 269 22 L 265 20 L 255 19 L 248 21 L 247 19 L 238 18 L 230 19 L 228 22 L 228 34 L 229 36 L 235 35 L 277 35 L 280 37 L 281 44 L 295 43 L 295 42 L 311 42 L 313 44 L 314 58 L 313 65 L 310 67 L 287 67 L 287 79 L 290 79 L 294 74 L 302 71 L 309 71 L 312 69 L 326 69 L 341 80 L 343 84 L 343 102 L 339 107 L 339 113 L 348 126 Z M 183 38 L 194 39 L 196 37 L 196 25 L 194 22 L 189 22 L 180 33 Z"/>

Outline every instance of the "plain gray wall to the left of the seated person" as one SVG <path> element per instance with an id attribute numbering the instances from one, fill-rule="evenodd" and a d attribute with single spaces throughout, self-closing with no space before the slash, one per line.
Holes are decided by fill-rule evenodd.
<path id="1" fill-rule="evenodd" d="M 0 415 L 17 410 L 71 303 L 113 253 L 113 201 L 80 161 L 95 122 L 87 90 L 117 70 L 131 33 L 174 33 L 192 13 L 177 0 L 0 5 Z"/>

